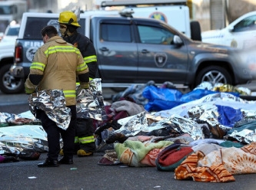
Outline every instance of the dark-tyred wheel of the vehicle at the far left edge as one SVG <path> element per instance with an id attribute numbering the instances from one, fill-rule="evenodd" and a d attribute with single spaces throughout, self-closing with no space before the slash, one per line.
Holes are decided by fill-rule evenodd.
<path id="1" fill-rule="evenodd" d="M 24 90 L 23 78 L 15 78 L 10 74 L 11 65 L 7 64 L 0 70 L 0 90 L 2 93 L 22 93 Z"/>

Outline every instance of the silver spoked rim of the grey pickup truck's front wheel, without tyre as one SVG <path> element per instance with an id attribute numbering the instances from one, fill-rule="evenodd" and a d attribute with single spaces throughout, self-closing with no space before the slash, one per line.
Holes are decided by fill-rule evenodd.
<path id="1" fill-rule="evenodd" d="M 218 70 L 211 70 L 208 73 L 204 74 L 202 77 L 202 82 L 210 82 L 212 84 L 227 84 L 227 79 L 224 74 L 221 74 Z"/>

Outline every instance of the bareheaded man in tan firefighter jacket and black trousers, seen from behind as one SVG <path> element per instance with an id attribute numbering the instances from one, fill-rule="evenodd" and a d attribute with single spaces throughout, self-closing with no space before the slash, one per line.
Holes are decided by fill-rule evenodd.
<path id="1" fill-rule="evenodd" d="M 65 106 L 71 110 L 68 129 L 61 129 L 51 120 L 44 110 L 36 110 L 36 118 L 41 120 L 47 133 L 48 157 L 38 167 L 58 167 L 59 164 L 73 164 L 75 129 L 76 129 L 76 80 L 81 89 L 89 87 L 89 70 L 81 52 L 58 36 L 54 26 L 48 25 L 41 31 L 44 45 L 35 52 L 30 73 L 25 81 L 25 93 L 40 90 L 63 90 Z M 59 139 L 63 140 L 63 157 Z"/>

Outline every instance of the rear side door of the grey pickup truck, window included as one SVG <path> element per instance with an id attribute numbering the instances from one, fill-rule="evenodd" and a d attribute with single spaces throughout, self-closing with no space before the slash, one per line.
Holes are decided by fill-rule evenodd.
<path id="1" fill-rule="evenodd" d="M 95 25 L 98 68 L 105 83 L 129 83 L 137 78 L 138 48 L 129 20 L 104 18 Z"/>

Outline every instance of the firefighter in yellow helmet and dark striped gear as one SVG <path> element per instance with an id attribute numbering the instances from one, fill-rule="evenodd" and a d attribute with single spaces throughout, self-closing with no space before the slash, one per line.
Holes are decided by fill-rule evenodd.
<path id="1" fill-rule="evenodd" d="M 89 79 L 95 78 L 97 72 L 97 57 L 94 45 L 85 35 L 78 33 L 80 28 L 78 16 L 73 11 L 63 11 L 58 18 L 59 30 L 62 38 L 73 44 L 81 51 L 85 63 L 89 68 Z M 75 153 L 78 156 L 91 156 L 95 152 L 94 126 L 92 119 L 77 118 L 75 130 Z M 62 154 L 62 151 L 60 152 Z"/>

